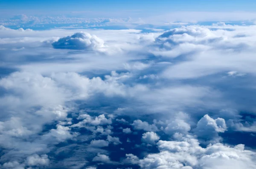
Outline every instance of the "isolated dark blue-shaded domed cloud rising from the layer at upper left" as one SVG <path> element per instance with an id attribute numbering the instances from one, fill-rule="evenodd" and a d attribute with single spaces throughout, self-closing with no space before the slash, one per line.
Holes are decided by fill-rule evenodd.
<path id="1" fill-rule="evenodd" d="M 101 51 L 104 47 L 104 41 L 95 35 L 90 35 L 85 32 L 77 32 L 72 36 L 61 37 L 58 41 L 53 42 L 52 46 L 55 49 Z"/>

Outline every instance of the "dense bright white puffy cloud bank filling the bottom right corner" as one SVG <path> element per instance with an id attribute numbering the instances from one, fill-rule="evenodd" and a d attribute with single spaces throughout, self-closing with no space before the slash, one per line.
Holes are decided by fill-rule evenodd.
<path id="1" fill-rule="evenodd" d="M 202 148 L 193 138 L 183 141 L 157 143 L 160 153 L 147 155 L 137 163 L 143 169 L 253 169 L 256 167 L 255 152 L 216 143 Z"/>

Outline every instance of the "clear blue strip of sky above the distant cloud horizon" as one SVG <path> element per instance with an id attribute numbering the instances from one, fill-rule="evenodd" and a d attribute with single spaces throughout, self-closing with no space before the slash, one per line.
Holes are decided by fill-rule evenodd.
<path id="1" fill-rule="evenodd" d="M 1 9 L 23 11 L 40 10 L 48 14 L 58 11 L 144 11 L 167 13 L 171 11 L 255 11 L 254 0 L 1 0 Z"/>

